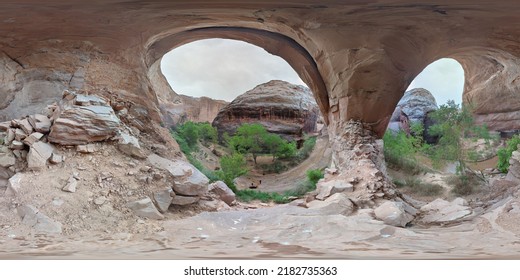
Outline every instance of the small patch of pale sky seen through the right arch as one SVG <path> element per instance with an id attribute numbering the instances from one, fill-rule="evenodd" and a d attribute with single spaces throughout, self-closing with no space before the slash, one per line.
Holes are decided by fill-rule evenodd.
<path id="1" fill-rule="evenodd" d="M 408 87 L 408 90 L 413 88 L 429 90 L 439 105 L 446 103 L 450 99 L 460 104 L 464 90 L 464 70 L 454 59 L 439 59 L 428 65 L 417 75 Z"/>

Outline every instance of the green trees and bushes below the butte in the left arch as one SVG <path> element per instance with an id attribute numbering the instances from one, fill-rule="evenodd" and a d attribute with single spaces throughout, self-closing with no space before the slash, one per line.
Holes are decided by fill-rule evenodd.
<path id="1" fill-rule="evenodd" d="M 288 203 L 295 197 L 301 197 L 305 193 L 316 188 L 316 183 L 323 178 L 321 170 L 308 170 L 307 180 L 293 190 L 284 193 L 261 192 L 257 190 L 238 190 L 234 180 L 249 172 L 247 157 L 253 159 L 253 168 L 265 173 L 280 173 L 290 167 L 298 165 L 301 161 L 309 157 L 315 144 L 316 137 L 307 137 L 300 149 L 297 149 L 295 142 L 288 142 L 279 135 L 269 133 L 260 124 L 243 124 L 233 136 L 225 134 L 221 147 L 226 150 L 225 155 L 220 155 L 220 169 L 210 170 L 202 162 L 197 160 L 193 153 L 199 149 L 199 145 L 205 147 L 219 146 L 217 130 L 209 123 L 186 122 L 175 127 L 171 131 L 180 146 L 181 151 L 186 155 L 188 161 L 206 175 L 210 181 L 221 180 L 230 187 L 237 198 L 244 202 L 259 200 L 262 202 L 273 201 L 275 203 Z M 271 164 L 257 164 L 257 158 L 271 156 Z"/>

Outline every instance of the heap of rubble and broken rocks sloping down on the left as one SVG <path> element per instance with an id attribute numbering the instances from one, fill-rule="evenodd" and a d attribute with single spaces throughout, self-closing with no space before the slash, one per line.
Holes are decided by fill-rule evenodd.
<path id="1" fill-rule="evenodd" d="M 45 113 L 0 123 L 0 222 L 47 234 L 104 224 L 140 231 L 170 207 L 235 203 L 223 182 L 210 185 L 191 164 L 157 154 L 166 147 L 142 147 L 120 113 L 101 97 L 66 90 Z"/>

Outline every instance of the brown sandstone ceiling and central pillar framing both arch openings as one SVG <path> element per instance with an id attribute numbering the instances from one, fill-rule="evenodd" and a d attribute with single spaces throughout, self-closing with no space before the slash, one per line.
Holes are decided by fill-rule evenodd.
<path id="1" fill-rule="evenodd" d="M 20 71 L 59 68 L 79 89 L 129 104 L 142 130 L 160 121 L 147 75 L 158 58 L 219 33 L 271 48 L 295 68 L 317 95 L 340 169 L 367 159 L 377 167 L 375 139 L 412 79 L 441 57 L 463 65 L 464 98 L 485 101 L 477 119 L 519 123 L 520 21 L 511 0 L 33 2 L 2 4 L 0 50 Z"/>

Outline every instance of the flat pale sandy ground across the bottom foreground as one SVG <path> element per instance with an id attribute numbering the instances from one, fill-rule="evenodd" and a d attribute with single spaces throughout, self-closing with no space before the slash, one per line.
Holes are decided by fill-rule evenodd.
<path id="1" fill-rule="evenodd" d="M 447 227 L 396 228 L 374 220 L 371 210 L 324 215 L 282 205 L 256 210 L 206 212 L 161 222 L 148 234 L 91 232 L 74 236 L 5 236 L 1 258 L 520 258 L 518 192 L 488 212 Z"/>

